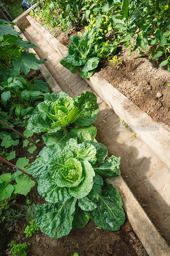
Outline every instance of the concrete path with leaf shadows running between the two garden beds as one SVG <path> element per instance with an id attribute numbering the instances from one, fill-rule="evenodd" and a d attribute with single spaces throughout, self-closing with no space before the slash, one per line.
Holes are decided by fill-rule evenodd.
<path id="1" fill-rule="evenodd" d="M 60 55 L 31 27 L 24 32 L 37 45 L 41 59 L 61 89 L 75 97 L 83 91 L 92 91 L 78 74 L 71 74 L 60 63 Z M 168 168 L 140 139 L 130 142 L 133 134 L 120 131 L 121 120 L 99 97 L 96 118 L 97 140 L 108 147 L 109 155 L 121 156 L 121 175 L 142 204 L 160 234 L 170 243 L 170 173 Z"/>

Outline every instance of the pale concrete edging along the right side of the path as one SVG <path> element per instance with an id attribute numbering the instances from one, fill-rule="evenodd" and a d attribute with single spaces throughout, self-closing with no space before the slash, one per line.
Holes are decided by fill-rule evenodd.
<path id="1" fill-rule="evenodd" d="M 67 47 L 60 43 L 45 28 L 43 28 L 31 16 L 26 17 L 30 24 L 41 34 L 61 57 L 68 54 Z M 170 168 L 170 133 L 161 124 L 153 121 L 147 113 L 141 110 L 135 103 L 129 100 L 106 80 L 95 73 L 89 79 L 84 79 L 87 84 L 123 119 L 128 125 L 159 127 L 158 131 L 135 130 L 152 151 Z"/>

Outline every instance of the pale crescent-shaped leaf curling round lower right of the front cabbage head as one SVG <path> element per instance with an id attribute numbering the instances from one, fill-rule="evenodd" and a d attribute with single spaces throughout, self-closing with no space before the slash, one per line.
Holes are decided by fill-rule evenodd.
<path id="1" fill-rule="evenodd" d="M 83 168 L 84 179 L 77 187 L 68 189 L 69 193 L 78 199 L 89 194 L 93 187 L 93 177 L 95 176 L 95 172 L 87 160 L 81 161 L 81 165 Z"/>

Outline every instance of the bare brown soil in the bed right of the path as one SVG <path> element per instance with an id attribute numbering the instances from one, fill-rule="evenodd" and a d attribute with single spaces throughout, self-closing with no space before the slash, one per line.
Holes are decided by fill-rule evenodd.
<path id="1" fill-rule="evenodd" d="M 66 35 L 65 32 L 59 29 L 52 32 L 45 24 L 43 24 L 43 27 L 65 46 L 70 44 L 69 37 L 71 35 L 78 36 L 77 31 L 82 33 L 85 31 L 80 26 L 74 27 L 68 29 Z M 110 41 L 113 40 L 110 32 L 107 36 Z M 163 59 L 159 58 L 159 63 L 155 67 L 153 61 L 148 58 L 149 54 L 138 58 L 138 53 L 132 52 L 131 56 L 128 57 L 129 49 L 129 47 L 125 48 L 123 45 L 117 47 L 115 54 L 117 58 L 120 58 L 118 61 L 123 64 L 117 63 L 118 69 L 113 62 L 102 59 L 96 72 L 101 75 L 101 78 L 107 80 L 128 99 L 133 101 L 139 108 L 148 113 L 153 120 L 161 123 L 166 130 L 170 131 L 170 87 L 168 86 L 170 83 L 170 73 L 167 72 L 166 66 L 159 67 Z M 149 47 L 146 50 L 149 50 Z M 157 96 L 158 92 L 161 94 Z"/>

